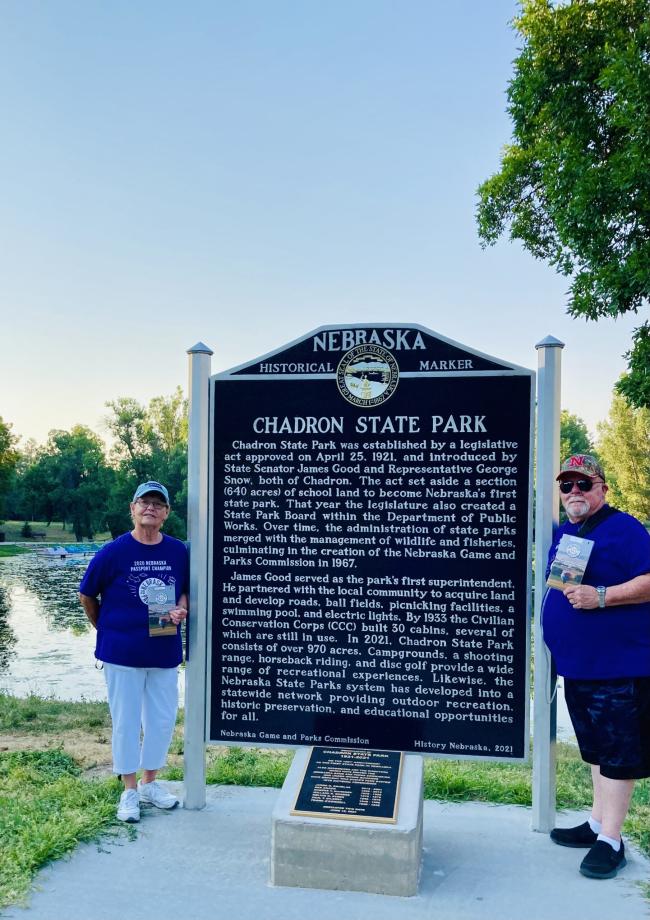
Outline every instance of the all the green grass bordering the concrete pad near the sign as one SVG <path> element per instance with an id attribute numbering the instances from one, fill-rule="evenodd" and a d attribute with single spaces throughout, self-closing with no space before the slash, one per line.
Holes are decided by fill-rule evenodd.
<path id="1" fill-rule="evenodd" d="M 0 746 L 5 736 L 33 738 L 33 750 L 0 752 L 0 908 L 24 900 L 35 873 L 48 861 L 95 839 L 115 825 L 116 779 L 88 780 L 80 761 L 60 748 L 39 750 L 70 733 L 110 731 L 105 703 L 61 702 L 0 693 Z M 183 779 L 183 712 L 179 712 L 163 779 Z M 210 784 L 270 786 L 284 782 L 292 750 L 209 747 Z M 456 802 L 530 806 L 532 764 L 425 759 L 424 797 Z M 557 807 L 584 810 L 591 778 L 573 745 L 557 745 Z M 650 855 L 650 780 L 636 784 L 624 826 L 626 836 Z M 650 890 L 649 890 L 650 896 Z"/>

